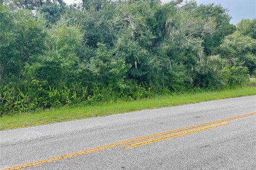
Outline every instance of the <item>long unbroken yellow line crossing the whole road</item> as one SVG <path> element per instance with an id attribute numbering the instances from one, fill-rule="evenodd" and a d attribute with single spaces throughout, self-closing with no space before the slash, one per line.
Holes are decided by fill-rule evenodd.
<path id="1" fill-rule="evenodd" d="M 116 143 L 112 143 L 110 145 L 105 145 L 105 146 L 101 146 L 101 147 L 97 147 L 97 148 L 86 149 L 86 150 L 83 150 L 83 151 L 78 151 L 78 152 L 74 152 L 74 153 L 67 154 L 67 155 L 62 155 L 62 156 L 57 156 L 57 157 L 53 157 L 53 158 L 43 159 L 43 160 L 39 160 L 39 161 L 33 162 L 33 163 L 27 163 L 27 164 L 22 164 L 22 165 L 2 168 L 1 170 L 21 169 L 21 168 L 41 165 L 41 164 L 45 164 L 45 163 L 55 162 L 55 161 L 58 161 L 58 160 L 61 160 L 61 159 L 75 157 L 75 156 L 78 156 L 78 155 L 89 154 L 91 152 L 100 151 L 100 150 L 108 149 L 108 148 L 113 148 L 113 147 L 116 147 L 116 146 L 121 146 L 121 145 L 125 145 L 127 143 L 131 143 L 131 142 L 136 142 L 136 141 L 140 141 L 140 140 L 155 138 L 155 137 L 159 137 L 159 136 L 162 136 L 162 135 L 171 134 L 171 133 L 175 133 L 175 132 L 180 132 L 180 131 L 186 131 L 186 130 L 190 130 L 190 129 L 200 128 L 200 127 L 207 126 L 207 125 L 213 125 L 213 124 L 217 124 L 217 123 L 228 122 L 228 121 L 236 120 L 238 118 L 243 118 L 243 117 L 252 116 L 252 115 L 256 115 L 256 112 L 249 113 L 249 114 L 244 114 L 244 115 L 240 115 L 240 116 L 235 116 L 235 117 L 230 117 L 230 118 L 226 118 L 226 119 L 219 120 L 219 121 L 214 121 L 214 122 L 209 122 L 209 123 L 203 123 L 203 124 L 198 124 L 198 125 L 194 125 L 194 126 L 189 126 L 187 128 L 181 128 L 181 129 L 177 129 L 177 130 L 172 130 L 172 131 L 166 131 L 166 132 L 162 132 L 162 133 L 151 134 L 151 135 L 147 135 L 145 137 L 134 138 L 134 139 L 131 139 L 131 140 L 116 142 Z M 212 126 L 211 126 L 211 128 L 212 128 Z M 207 129 L 211 129 L 211 128 L 208 127 Z M 215 126 L 213 128 L 215 128 Z M 203 128 L 202 128 L 202 130 L 203 130 Z M 202 130 L 198 130 L 198 131 L 202 131 Z M 186 132 L 183 132 L 183 133 L 186 133 Z M 190 132 L 190 133 L 194 133 L 194 132 Z M 189 134 L 189 133 L 187 133 L 187 134 Z M 183 135 L 185 135 L 185 134 L 183 134 Z M 163 140 L 165 140 L 165 139 L 163 138 Z M 161 141 L 161 140 L 159 139 L 158 141 Z"/>

